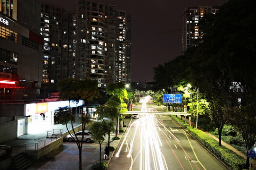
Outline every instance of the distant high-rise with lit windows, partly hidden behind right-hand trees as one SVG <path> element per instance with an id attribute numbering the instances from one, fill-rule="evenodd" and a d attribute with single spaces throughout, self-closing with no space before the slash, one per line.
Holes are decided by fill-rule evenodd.
<path id="1" fill-rule="evenodd" d="M 204 34 L 200 29 L 199 22 L 205 14 L 216 14 L 219 7 L 200 6 L 186 8 L 183 12 L 183 34 L 182 51 L 185 52 L 189 47 L 194 47 L 202 41 Z"/>

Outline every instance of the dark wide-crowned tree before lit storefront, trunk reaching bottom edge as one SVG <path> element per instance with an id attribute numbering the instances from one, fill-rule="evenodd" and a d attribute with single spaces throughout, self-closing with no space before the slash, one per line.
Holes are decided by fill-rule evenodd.
<path id="1" fill-rule="evenodd" d="M 99 91 L 98 86 L 95 82 L 89 80 L 89 79 L 83 79 L 83 80 L 76 80 L 73 78 L 65 78 L 62 80 L 59 80 L 57 83 L 57 90 L 59 93 L 59 98 L 63 100 L 69 101 L 69 114 L 70 114 L 70 120 L 71 120 L 71 126 L 74 131 L 73 127 L 73 116 L 71 112 L 70 102 L 76 101 L 78 102 L 80 99 L 83 101 L 91 102 L 93 101 L 93 98 L 99 97 Z M 82 140 L 81 142 L 78 141 L 78 138 L 75 134 L 75 142 L 77 144 L 78 150 L 79 150 L 79 170 L 82 170 L 82 144 L 83 144 L 83 137 L 84 137 L 84 130 L 86 123 L 89 122 L 89 119 L 87 119 L 88 114 L 88 107 L 86 115 L 81 116 L 81 123 L 82 123 Z M 68 130 L 69 132 L 69 130 Z M 69 132 L 70 134 L 70 132 Z"/>

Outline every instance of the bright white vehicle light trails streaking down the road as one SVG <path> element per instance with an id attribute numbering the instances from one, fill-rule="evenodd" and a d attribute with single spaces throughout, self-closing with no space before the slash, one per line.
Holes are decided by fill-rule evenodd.
<path id="1" fill-rule="evenodd" d="M 143 99 L 142 110 L 147 110 L 146 102 L 148 101 L 148 99 L 148 97 L 145 97 Z M 138 159 L 140 166 L 139 170 L 168 170 L 165 156 L 161 151 L 161 147 L 163 145 L 157 132 L 158 127 L 155 127 L 155 120 L 155 115 L 143 114 L 128 128 L 127 134 L 125 135 L 124 140 L 119 147 L 116 157 L 119 157 L 125 141 L 128 141 L 127 138 L 129 133 L 131 133 L 131 127 L 136 126 L 135 130 L 132 131 L 133 134 L 129 135 L 132 136 L 129 139 L 129 144 L 126 143 L 129 151 L 127 157 L 132 158 L 132 155 L 136 154 L 135 159 L 131 163 L 130 170 L 132 170 L 134 162 Z M 138 135 L 140 136 L 139 145 L 135 142 L 135 138 Z M 138 148 L 139 150 L 136 151 L 136 148 Z M 134 153 L 135 151 L 136 153 Z"/>

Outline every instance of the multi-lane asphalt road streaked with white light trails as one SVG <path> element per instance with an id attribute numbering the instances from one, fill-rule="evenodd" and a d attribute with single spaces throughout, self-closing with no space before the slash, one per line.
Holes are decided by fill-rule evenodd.
<path id="1" fill-rule="evenodd" d="M 157 108 L 149 98 L 142 111 Z M 142 114 L 122 137 L 109 170 L 228 170 L 168 115 Z"/>

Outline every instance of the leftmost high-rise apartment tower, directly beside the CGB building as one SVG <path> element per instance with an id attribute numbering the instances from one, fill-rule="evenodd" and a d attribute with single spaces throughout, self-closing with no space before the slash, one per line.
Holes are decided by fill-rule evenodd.
<path id="1" fill-rule="evenodd" d="M 55 83 L 61 79 L 62 54 L 62 19 L 64 9 L 54 6 L 47 1 L 41 5 L 40 34 L 44 38 L 43 44 L 43 83 Z M 63 19 L 65 20 L 65 19 Z M 67 47 L 65 47 L 67 48 Z M 63 48 L 65 50 L 65 48 Z M 63 53 L 64 55 L 64 53 Z M 66 71 L 66 69 L 65 69 Z"/>

